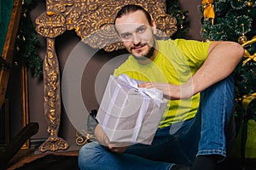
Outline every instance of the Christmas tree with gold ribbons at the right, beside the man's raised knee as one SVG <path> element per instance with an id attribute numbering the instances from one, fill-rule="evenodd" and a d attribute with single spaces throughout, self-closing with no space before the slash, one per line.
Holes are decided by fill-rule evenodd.
<path id="1" fill-rule="evenodd" d="M 247 122 L 256 122 L 256 2 L 255 0 L 203 0 L 201 36 L 207 40 L 239 42 L 245 54 L 234 71 L 235 116 L 237 130 L 241 122 L 241 144 L 247 140 Z M 241 150 L 244 156 L 244 150 Z"/>

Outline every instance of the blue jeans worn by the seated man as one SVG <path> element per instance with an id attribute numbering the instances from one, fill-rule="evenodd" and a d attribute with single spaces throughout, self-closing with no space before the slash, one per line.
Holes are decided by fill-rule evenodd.
<path id="1" fill-rule="evenodd" d="M 192 165 L 199 155 L 224 158 L 226 146 L 236 135 L 233 106 L 234 80 L 230 76 L 201 92 L 193 119 L 158 129 L 151 145 L 134 144 L 124 154 L 116 154 L 96 142 L 85 144 L 79 150 L 79 168 L 164 170 L 174 164 Z"/>

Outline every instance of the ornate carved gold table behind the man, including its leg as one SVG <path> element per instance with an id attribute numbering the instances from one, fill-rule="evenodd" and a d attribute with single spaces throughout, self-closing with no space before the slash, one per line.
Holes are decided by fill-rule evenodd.
<path id="1" fill-rule="evenodd" d="M 49 138 L 39 151 L 67 150 L 68 144 L 59 138 L 61 117 L 60 71 L 55 54 L 55 37 L 67 30 L 76 31 L 92 48 L 110 52 L 124 48 L 114 29 L 113 20 L 126 4 L 143 6 L 157 26 L 157 37 L 171 37 L 177 31 L 177 21 L 166 14 L 166 0 L 46 0 L 46 11 L 36 20 L 36 31 L 46 38 L 44 58 L 44 115 Z"/>

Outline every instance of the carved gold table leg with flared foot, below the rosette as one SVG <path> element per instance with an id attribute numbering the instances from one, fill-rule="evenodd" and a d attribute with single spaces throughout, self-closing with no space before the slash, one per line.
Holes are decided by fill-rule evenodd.
<path id="1" fill-rule="evenodd" d="M 44 114 L 49 138 L 39 150 L 42 152 L 67 150 L 67 142 L 57 136 L 61 122 L 60 71 L 55 54 L 55 40 L 50 37 L 47 38 L 47 53 L 44 58 Z"/>

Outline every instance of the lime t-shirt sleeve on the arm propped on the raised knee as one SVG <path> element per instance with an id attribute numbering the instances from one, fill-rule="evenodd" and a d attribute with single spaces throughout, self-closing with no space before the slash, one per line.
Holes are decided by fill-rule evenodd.
<path id="1" fill-rule="evenodd" d="M 178 48 L 189 58 L 189 61 L 196 66 L 200 66 L 208 55 L 208 49 L 212 42 L 200 42 L 195 40 L 176 39 Z"/>

